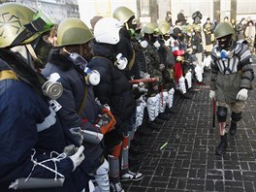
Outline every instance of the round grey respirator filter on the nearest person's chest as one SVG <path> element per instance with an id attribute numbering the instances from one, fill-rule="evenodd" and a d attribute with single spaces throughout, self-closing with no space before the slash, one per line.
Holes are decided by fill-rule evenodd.
<path id="1" fill-rule="evenodd" d="M 60 76 L 58 73 L 50 74 L 48 80 L 42 85 L 44 95 L 51 100 L 58 99 L 63 92 L 62 84 L 58 81 Z"/>

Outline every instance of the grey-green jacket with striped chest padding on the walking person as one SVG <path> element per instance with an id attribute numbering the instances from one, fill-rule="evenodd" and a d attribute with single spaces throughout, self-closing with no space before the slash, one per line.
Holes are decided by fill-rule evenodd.
<path id="1" fill-rule="evenodd" d="M 236 102 L 241 88 L 251 88 L 254 73 L 251 68 L 251 52 L 243 40 L 235 42 L 227 58 L 221 58 L 221 49 L 216 45 L 211 52 L 210 89 L 216 92 L 216 101 Z"/>

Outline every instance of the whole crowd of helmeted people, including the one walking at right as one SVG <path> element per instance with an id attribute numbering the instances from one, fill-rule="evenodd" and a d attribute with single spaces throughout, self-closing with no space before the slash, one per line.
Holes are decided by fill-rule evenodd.
<path id="1" fill-rule="evenodd" d="M 175 94 L 191 99 L 210 71 L 217 155 L 236 134 L 254 76 L 230 24 L 201 25 L 200 12 L 189 24 L 180 12 L 175 26 L 168 13 L 141 27 L 122 6 L 92 28 L 74 17 L 56 26 L 17 3 L 0 12 L 1 191 L 123 192 L 122 182 L 144 178 L 131 171 L 144 153 L 138 138 L 158 132 Z"/>

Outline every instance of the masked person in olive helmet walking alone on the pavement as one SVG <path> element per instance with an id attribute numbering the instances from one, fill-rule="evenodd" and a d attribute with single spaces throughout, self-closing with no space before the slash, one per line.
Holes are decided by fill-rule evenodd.
<path id="1" fill-rule="evenodd" d="M 244 40 L 234 41 L 234 33 L 229 23 L 219 23 L 214 32 L 218 44 L 211 52 L 209 98 L 216 100 L 220 135 L 216 155 L 226 152 L 227 133 L 235 136 L 251 81 L 254 79 L 251 52 Z M 227 125 L 228 110 L 231 112 L 230 127 Z"/>

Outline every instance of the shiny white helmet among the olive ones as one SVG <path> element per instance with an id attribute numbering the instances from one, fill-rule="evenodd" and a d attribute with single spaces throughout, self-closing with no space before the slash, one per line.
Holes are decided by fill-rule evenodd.
<path id="1" fill-rule="evenodd" d="M 122 23 L 115 18 L 101 18 L 94 26 L 96 42 L 115 45 L 120 41 Z"/>

